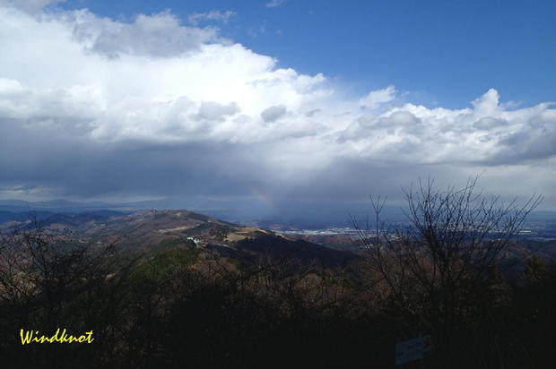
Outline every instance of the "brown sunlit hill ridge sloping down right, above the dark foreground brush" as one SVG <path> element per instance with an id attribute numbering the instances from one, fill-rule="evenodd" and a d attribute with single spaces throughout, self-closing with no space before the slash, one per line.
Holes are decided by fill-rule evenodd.
<path id="1" fill-rule="evenodd" d="M 55 202 L 55 205 L 68 203 Z M 75 242 L 89 245 L 115 243 L 130 253 L 154 254 L 177 247 L 197 248 L 242 262 L 255 261 L 259 257 L 288 258 L 305 264 L 317 262 L 326 267 L 340 267 L 358 258 L 354 253 L 282 236 L 259 227 L 241 227 L 188 210 L 140 210 L 133 213 L 115 210 L 82 213 L 36 211 L 36 219 L 30 219 L 29 214 L 22 212 L 4 211 L 2 215 L 4 224 L 0 225 L 0 230 L 4 233 L 14 227 L 25 230 L 39 225 L 49 234 L 70 236 Z"/>

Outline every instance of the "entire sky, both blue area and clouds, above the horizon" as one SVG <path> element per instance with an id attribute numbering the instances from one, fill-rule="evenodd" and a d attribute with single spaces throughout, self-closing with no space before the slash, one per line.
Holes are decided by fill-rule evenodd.
<path id="1" fill-rule="evenodd" d="M 556 210 L 555 13 L 0 0 L 0 199 L 309 217 L 480 175 Z"/>

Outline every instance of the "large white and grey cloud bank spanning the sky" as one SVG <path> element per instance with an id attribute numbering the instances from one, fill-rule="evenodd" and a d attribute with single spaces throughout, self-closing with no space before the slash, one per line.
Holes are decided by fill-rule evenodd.
<path id="1" fill-rule="evenodd" d="M 124 23 L 48 3 L 0 2 L 0 197 L 364 201 L 485 172 L 494 193 L 555 202 L 552 102 L 491 89 L 424 107 L 394 86 L 353 98 L 198 26 L 232 13 Z"/>

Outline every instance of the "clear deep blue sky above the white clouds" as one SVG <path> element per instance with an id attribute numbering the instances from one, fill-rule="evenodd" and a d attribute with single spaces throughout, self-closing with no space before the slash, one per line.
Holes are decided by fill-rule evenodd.
<path id="1" fill-rule="evenodd" d="M 170 9 L 181 21 L 235 14 L 222 36 L 300 73 L 324 73 L 361 92 L 395 85 L 413 101 L 465 107 L 496 88 L 526 105 L 556 96 L 553 1 L 77 0 L 122 21 Z M 207 23 L 207 24 L 210 24 Z"/>

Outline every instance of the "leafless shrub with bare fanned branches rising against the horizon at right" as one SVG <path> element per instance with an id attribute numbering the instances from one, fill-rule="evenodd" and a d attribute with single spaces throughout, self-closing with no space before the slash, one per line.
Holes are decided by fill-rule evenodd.
<path id="1" fill-rule="evenodd" d="M 407 224 L 381 219 L 386 199 L 371 197 L 374 230 L 358 229 L 365 260 L 378 276 L 382 296 L 396 311 L 413 319 L 413 330 L 465 325 L 482 305 L 495 304 L 496 270 L 509 241 L 527 215 L 542 201 L 533 195 L 525 205 L 476 193 L 477 177 L 462 188 L 435 188 L 419 181 L 404 189 Z"/>

